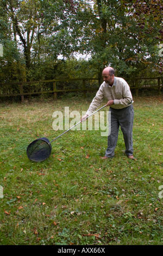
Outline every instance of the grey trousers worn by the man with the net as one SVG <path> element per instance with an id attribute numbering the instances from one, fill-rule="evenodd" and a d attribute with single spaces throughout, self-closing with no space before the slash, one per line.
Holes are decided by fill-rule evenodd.
<path id="1" fill-rule="evenodd" d="M 134 108 L 133 105 L 122 109 L 109 108 L 111 111 L 111 131 L 108 136 L 108 148 L 105 156 L 114 157 L 114 150 L 117 145 L 118 131 L 121 126 L 124 144 L 126 146 L 126 155 L 133 155 L 133 121 Z"/>

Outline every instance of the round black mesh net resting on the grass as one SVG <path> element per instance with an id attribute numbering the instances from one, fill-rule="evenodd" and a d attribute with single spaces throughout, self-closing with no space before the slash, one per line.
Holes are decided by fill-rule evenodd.
<path id="1" fill-rule="evenodd" d="M 36 139 L 28 145 L 27 156 L 34 162 L 42 162 L 51 155 L 52 146 L 47 138 Z"/>

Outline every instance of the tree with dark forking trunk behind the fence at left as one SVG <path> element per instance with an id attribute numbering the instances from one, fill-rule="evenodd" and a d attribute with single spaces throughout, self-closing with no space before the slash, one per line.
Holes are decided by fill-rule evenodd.
<path id="1" fill-rule="evenodd" d="M 2 27 L 3 35 L 8 37 L 9 32 L 11 44 L 14 45 L 15 50 L 17 49 L 17 53 L 23 53 L 21 58 L 26 64 L 27 79 L 32 79 L 31 74 L 35 67 L 39 77 L 40 67 L 42 70 L 46 63 L 51 66 L 54 63 L 55 66 L 59 54 L 62 53 L 65 41 L 61 44 L 61 39 L 62 35 L 66 34 L 64 32 L 66 29 L 60 28 L 60 21 L 64 5 L 62 0 L 2 0 L 0 4 L 3 10 L 2 20 L 4 21 L 5 17 L 5 24 L 9 28 L 7 30 Z M 72 7 L 67 5 L 66 8 Z M 54 36 L 56 34 L 57 36 Z M 68 36 L 67 34 L 67 38 Z M 53 39 L 55 41 L 51 45 Z M 10 49 L 9 55 L 12 53 Z M 13 57 L 10 59 L 11 62 Z"/>

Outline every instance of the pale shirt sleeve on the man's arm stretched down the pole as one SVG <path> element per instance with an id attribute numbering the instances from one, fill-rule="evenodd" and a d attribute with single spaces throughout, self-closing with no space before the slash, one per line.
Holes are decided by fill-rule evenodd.
<path id="1" fill-rule="evenodd" d="M 96 93 L 96 96 L 93 98 L 89 106 L 89 109 L 87 109 L 86 114 L 87 115 L 92 114 L 101 105 L 103 98 L 104 98 L 104 93 L 103 93 L 103 87 L 101 85 L 101 87 L 99 87 L 98 92 Z"/>

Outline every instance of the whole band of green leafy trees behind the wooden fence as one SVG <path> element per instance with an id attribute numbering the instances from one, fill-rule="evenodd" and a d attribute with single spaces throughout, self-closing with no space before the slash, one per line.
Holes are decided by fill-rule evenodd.
<path id="1" fill-rule="evenodd" d="M 3 0 L 0 14 L 3 82 L 58 76 L 77 53 L 99 78 L 106 65 L 126 78 L 162 72 L 160 0 Z"/>

